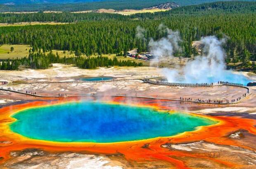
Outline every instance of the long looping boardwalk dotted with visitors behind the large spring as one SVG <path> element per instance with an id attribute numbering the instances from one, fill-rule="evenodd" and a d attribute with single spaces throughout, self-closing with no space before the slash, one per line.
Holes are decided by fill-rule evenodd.
<path id="1" fill-rule="evenodd" d="M 251 94 L 250 92 L 250 88 L 246 87 L 242 84 L 236 84 L 236 83 L 229 83 L 229 82 L 218 82 L 218 83 L 201 83 L 201 84 L 190 84 L 190 83 L 169 83 L 169 82 L 161 82 L 161 81 L 156 81 L 156 80 L 151 80 L 151 79 L 157 79 L 157 78 L 162 78 L 162 76 L 155 76 L 155 77 L 146 77 L 144 79 L 139 79 L 139 78 L 134 78 L 134 79 L 116 79 L 114 78 L 113 80 L 100 80 L 100 81 L 66 81 L 66 82 L 21 82 L 21 83 L 11 83 L 11 84 L 2 84 L 0 87 L 0 90 L 3 91 L 7 91 L 7 92 L 15 92 L 15 93 L 19 93 L 19 94 L 24 94 L 24 95 L 28 95 L 28 96 L 35 96 L 35 97 L 45 97 L 45 98 L 62 98 L 62 97 L 86 97 L 86 96 L 123 96 L 123 97 L 137 97 L 137 98 L 147 98 L 147 99 L 165 99 L 165 100 L 172 100 L 172 101 L 185 101 L 185 102 L 193 102 L 193 103 L 204 103 L 204 104 L 235 104 L 235 103 L 239 103 L 240 101 L 244 100 L 245 98 L 247 98 L 247 96 L 249 96 Z M 242 87 L 247 89 L 247 94 L 243 94 L 243 96 L 236 98 L 236 99 L 232 99 L 231 101 L 229 101 L 228 99 L 226 100 L 213 100 L 213 99 L 192 99 L 192 98 L 184 98 L 184 97 L 180 97 L 180 99 L 169 99 L 169 98 L 160 98 L 158 96 L 156 97 L 151 97 L 151 96 L 127 96 L 127 95 L 120 95 L 120 94 L 116 94 L 116 95 L 91 95 L 91 94 L 87 94 L 87 95 L 75 95 L 75 96 L 64 96 L 64 95 L 55 95 L 55 96 L 45 96 L 45 95 L 39 95 L 36 93 L 28 93 L 28 92 L 21 92 L 21 91 L 17 91 L 11 88 L 3 88 L 5 86 L 9 86 L 9 85 L 19 85 L 19 84 L 50 84 L 50 83 L 92 83 L 92 82 L 115 82 L 115 81 L 127 81 L 127 80 L 142 80 L 145 83 L 149 83 L 152 85 L 165 85 L 165 86 L 179 86 L 179 87 L 214 87 L 214 86 L 221 86 L 221 85 L 227 85 L 227 86 L 235 86 L 235 87 Z"/>

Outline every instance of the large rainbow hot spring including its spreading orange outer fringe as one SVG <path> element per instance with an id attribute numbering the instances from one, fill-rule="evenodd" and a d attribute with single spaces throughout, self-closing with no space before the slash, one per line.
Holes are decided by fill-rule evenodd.
<path id="1" fill-rule="evenodd" d="M 168 145 L 204 140 L 205 143 L 253 150 L 248 145 L 227 139 L 226 135 L 239 129 L 256 134 L 255 120 L 185 113 L 174 110 L 175 103 L 168 100 L 87 99 L 41 99 L 2 108 L 0 141 L 9 140 L 8 146 L 1 148 L 2 162 L 10 158 L 12 151 L 39 148 L 52 153 L 121 153 L 134 162 L 159 160 L 177 168 L 187 168 L 181 157 L 234 167 L 235 162 L 200 152 L 170 151 Z"/>

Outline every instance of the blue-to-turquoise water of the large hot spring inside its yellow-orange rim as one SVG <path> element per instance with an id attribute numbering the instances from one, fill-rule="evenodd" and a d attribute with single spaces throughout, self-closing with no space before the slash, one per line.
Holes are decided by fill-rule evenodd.
<path id="1" fill-rule="evenodd" d="M 14 114 L 10 129 L 28 138 L 60 142 L 111 143 L 193 131 L 217 122 L 184 113 L 100 102 L 30 108 Z"/>

